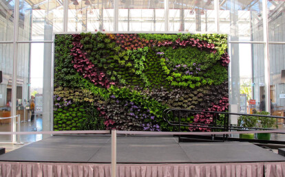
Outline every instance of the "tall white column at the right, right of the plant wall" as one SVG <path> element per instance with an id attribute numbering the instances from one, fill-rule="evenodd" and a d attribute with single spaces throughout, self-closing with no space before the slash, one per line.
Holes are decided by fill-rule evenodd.
<path id="1" fill-rule="evenodd" d="M 265 110 L 270 112 L 270 77 L 269 77 L 269 46 L 268 46 L 268 16 L 267 0 L 262 0 L 263 40 L 264 44 L 264 84 L 265 84 Z"/>

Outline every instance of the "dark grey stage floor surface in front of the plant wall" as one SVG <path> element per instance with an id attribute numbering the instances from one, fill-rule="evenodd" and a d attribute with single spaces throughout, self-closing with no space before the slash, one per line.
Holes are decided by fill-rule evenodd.
<path id="1" fill-rule="evenodd" d="M 109 136 L 54 136 L 0 155 L 0 161 L 110 163 Z M 175 137 L 117 137 L 117 163 L 285 161 L 251 143 L 178 143 Z"/>

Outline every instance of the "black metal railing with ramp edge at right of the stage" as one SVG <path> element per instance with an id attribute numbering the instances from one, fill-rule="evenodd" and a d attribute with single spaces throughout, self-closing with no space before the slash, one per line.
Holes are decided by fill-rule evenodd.
<path id="1" fill-rule="evenodd" d="M 211 119 L 208 123 L 195 123 L 191 121 L 183 121 L 183 117 L 196 117 L 197 115 L 208 116 Z M 206 110 L 187 110 L 187 109 L 166 109 L 162 113 L 163 119 L 169 123 L 169 125 L 174 126 L 175 130 L 178 132 L 182 131 L 182 127 L 190 128 L 191 130 L 209 131 L 209 132 L 233 132 L 233 131 L 255 131 L 255 130 L 275 130 L 271 128 L 257 128 L 257 127 L 243 127 L 229 124 L 229 118 L 231 116 L 240 117 L 269 117 L 271 119 L 285 119 L 285 117 L 271 116 L 271 115 L 249 115 L 242 113 L 227 113 L 227 112 L 217 112 L 217 111 L 206 111 Z M 183 119 L 183 120 L 182 120 Z M 192 118 L 195 119 L 195 118 Z M 206 121 L 207 118 L 205 118 Z M 281 133 L 281 132 L 280 132 Z M 193 137 L 193 136 L 192 136 Z M 185 138 L 185 136 L 184 136 Z M 198 138 L 209 138 L 209 137 L 198 137 Z M 215 134 L 211 136 L 211 140 L 221 140 L 220 137 L 215 137 Z M 181 136 L 179 135 L 179 140 Z M 257 139 L 238 139 L 230 138 L 229 134 L 222 135 L 222 141 L 251 141 L 257 143 L 284 143 L 284 141 L 267 141 L 267 140 L 257 140 Z"/>

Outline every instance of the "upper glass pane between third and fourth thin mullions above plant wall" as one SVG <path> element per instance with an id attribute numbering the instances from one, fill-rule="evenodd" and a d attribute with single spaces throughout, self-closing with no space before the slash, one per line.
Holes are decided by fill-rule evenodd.
<path id="1" fill-rule="evenodd" d="M 169 31 L 216 32 L 214 1 L 169 1 Z"/>

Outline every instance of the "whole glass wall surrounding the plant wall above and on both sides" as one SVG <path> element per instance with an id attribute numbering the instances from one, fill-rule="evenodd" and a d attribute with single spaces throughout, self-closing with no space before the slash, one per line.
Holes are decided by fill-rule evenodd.
<path id="1" fill-rule="evenodd" d="M 52 127 L 54 32 L 229 34 L 230 111 L 240 112 L 240 93 L 249 88 L 247 97 L 255 99 L 257 109 L 266 95 L 265 104 L 274 106 L 267 111 L 284 113 L 283 1 L 0 0 L 0 7 L 0 110 L 15 108 L 10 115 L 16 115 L 20 103 L 28 106 L 32 94 L 42 94 L 43 130 Z M 19 8 L 18 16 L 15 8 Z M 13 61 L 17 65 L 14 83 Z"/>

